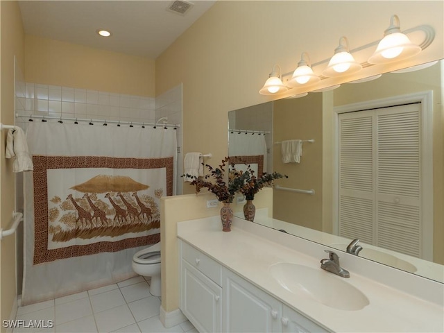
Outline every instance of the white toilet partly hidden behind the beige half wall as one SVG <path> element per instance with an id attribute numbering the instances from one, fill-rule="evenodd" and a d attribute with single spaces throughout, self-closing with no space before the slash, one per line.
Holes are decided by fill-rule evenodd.
<path id="1" fill-rule="evenodd" d="M 140 250 L 133 256 L 133 270 L 142 276 L 151 276 L 150 293 L 161 296 L 160 242 Z"/>

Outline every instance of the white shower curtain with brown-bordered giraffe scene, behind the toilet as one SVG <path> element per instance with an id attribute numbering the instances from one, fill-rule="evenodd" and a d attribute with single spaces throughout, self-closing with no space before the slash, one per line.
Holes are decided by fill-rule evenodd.
<path id="1" fill-rule="evenodd" d="M 176 130 L 33 122 L 26 135 L 22 304 L 134 276 L 175 192 Z"/>

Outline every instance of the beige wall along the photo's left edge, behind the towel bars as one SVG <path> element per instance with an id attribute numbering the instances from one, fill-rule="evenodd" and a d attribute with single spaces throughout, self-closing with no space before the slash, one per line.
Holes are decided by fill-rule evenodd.
<path id="1" fill-rule="evenodd" d="M 14 123 L 14 56 L 24 68 L 24 29 L 17 2 L 0 1 L 0 121 Z M 0 219 L 1 228 L 8 229 L 15 209 L 15 177 L 12 162 L 5 159 L 6 131 L 1 134 L 0 149 Z M 0 243 L 0 316 L 10 319 L 17 293 L 15 282 L 15 235 Z M 1 332 L 6 331 L 3 325 Z"/>

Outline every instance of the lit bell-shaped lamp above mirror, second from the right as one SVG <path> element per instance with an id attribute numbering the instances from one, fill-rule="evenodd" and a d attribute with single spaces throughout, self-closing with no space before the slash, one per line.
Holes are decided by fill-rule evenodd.
<path id="1" fill-rule="evenodd" d="M 345 45 L 343 45 L 345 42 Z M 327 77 L 352 74 L 362 69 L 361 64 L 353 58 L 348 49 L 348 39 L 345 36 L 339 38 L 339 46 L 334 49 L 334 56 L 330 59 L 327 68 L 322 75 Z"/>

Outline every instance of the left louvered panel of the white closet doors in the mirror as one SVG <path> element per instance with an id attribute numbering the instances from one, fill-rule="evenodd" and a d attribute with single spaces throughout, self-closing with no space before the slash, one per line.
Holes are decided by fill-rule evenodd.
<path id="1" fill-rule="evenodd" d="M 374 244 L 375 112 L 339 114 L 339 236 Z"/>

